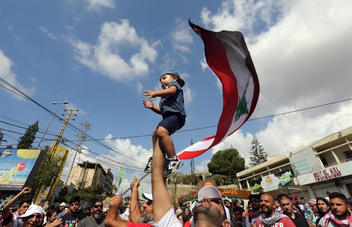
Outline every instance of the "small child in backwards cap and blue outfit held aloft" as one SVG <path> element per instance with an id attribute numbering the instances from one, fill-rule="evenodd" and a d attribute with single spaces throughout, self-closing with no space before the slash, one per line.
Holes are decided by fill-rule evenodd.
<path id="1" fill-rule="evenodd" d="M 180 78 L 178 72 L 168 70 L 161 75 L 160 83 L 163 90 L 144 90 L 144 96 L 148 96 L 148 99 L 143 99 L 143 106 L 163 117 L 152 134 L 153 150 L 156 143 L 159 142 L 162 152 L 167 155 L 164 177 L 170 178 L 183 166 L 182 161 L 176 156 L 170 136 L 185 124 L 186 113 L 183 90 L 181 89 L 185 82 Z M 152 100 L 154 97 L 161 97 L 159 107 L 154 106 Z M 152 172 L 152 158 L 149 158 L 144 172 Z"/>

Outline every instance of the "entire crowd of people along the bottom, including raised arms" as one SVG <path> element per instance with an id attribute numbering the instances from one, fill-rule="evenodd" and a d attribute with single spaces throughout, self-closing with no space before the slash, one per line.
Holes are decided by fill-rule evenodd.
<path id="1" fill-rule="evenodd" d="M 157 160 L 158 157 L 155 157 Z M 156 163 L 156 162 L 155 162 Z M 158 167 L 158 166 L 157 166 Z M 23 188 L 2 208 L 0 226 L 3 227 L 116 227 L 116 226 L 227 226 L 227 227 L 348 227 L 352 226 L 351 198 L 339 192 L 329 197 L 306 201 L 304 197 L 290 197 L 281 193 L 250 194 L 247 206 L 243 200 L 231 203 L 222 199 L 214 186 L 205 186 L 198 192 L 197 201 L 187 202 L 185 207 L 172 206 L 164 184 L 160 166 L 158 175 L 153 175 L 153 194 L 143 193 L 140 204 L 138 187 L 140 180 L 131 183 L 131 198 L 123 212 L 122 198 L 116 195 L 105 212 L 103 201 L 95 200 L 83 212 L 80 197 L 72 196 L 68 208 L 61 203 L 57 208 L 32 204 L 32 199 L 21 199 L 31 192 Z M 158 182 L 159 181 L 159 182 Z M 19 201 L 19 203 L 18 203 Z M 13 205 L 16 204 L 16 207 Z"/>

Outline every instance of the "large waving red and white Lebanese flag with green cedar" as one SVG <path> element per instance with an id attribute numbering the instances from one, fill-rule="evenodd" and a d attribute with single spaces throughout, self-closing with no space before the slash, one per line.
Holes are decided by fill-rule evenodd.
<path id="1" fill-rule="evenodd" d="M 259 97 L 258 75 L 242 33 L 212 32 L 188 22 L 202 38 L 207 63 L 221 81 L 223 108 L 216 135 L 182 150 L 177 154 L 180 159 L 202 155 L 236 132 L 252 115 Z"/>

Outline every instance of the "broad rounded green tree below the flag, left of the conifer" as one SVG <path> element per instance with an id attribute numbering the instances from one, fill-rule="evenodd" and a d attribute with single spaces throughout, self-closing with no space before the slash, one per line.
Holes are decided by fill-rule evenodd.
<path id="1" fill-rule="evenodd" d="M 208 163 L 210 173 L 225 176 L 236 175 L 244 170 L 244 158 L 235 148 L 218 150 Z"/>

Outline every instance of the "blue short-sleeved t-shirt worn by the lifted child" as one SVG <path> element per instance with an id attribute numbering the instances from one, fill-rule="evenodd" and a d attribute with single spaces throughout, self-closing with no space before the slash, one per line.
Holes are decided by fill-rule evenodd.
<path id="1" fill-rule="evenodd" d="M 186 116 L 183 90 L 177 81 L 172 81 L 167 85 L 168 88 L 171 86 L 177 87 L 177 92 L 170 97 L 162 97 L 160 99 L 159 107 L 161 113 L 163 114 L 165 112 L 176 112 Z"/>

